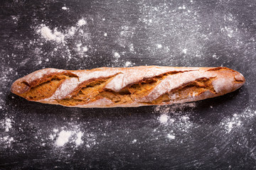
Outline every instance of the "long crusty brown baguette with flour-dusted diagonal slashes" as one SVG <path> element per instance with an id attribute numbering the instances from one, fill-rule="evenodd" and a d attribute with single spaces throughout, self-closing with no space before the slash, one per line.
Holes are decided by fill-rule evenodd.
<path id="1" fill-rule="evenodd" d="M 226 67 L 41 69 L 16 80 L 11 92 L 69 107 L 138 107 L 213 98 L 244 83 L 242 74 Z"/>

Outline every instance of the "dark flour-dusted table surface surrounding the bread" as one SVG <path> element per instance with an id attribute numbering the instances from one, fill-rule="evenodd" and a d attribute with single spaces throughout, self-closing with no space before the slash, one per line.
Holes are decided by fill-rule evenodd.
<path id="1" fill-rule="evenodd" d="M 256 169 L 256 1 L 1 1 L 0 169 Z M 11 94 L 28 73 L 229 67 L 205 101 L 66 108 Z"/>

